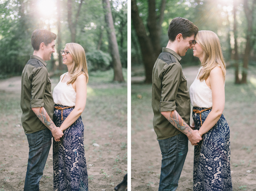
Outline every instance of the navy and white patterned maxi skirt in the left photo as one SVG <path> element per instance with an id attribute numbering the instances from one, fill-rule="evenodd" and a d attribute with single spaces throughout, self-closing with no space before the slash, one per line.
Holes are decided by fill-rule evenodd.
<path id="1" fill-rule="evenodd" d="M 54 106 L 67 107 L 55 104 Z M 73 108 L 55 109 L 53 122 L 60 127 Z M 62 113 L 62 112 L 63 113 Z M 61 114 L 62 113 L 62 114 Z M 63 120 L 61 120 L 61 115 Z M 53 190 L 88 191 L 88 175 L 84 156 L 84 124 L 81 116 L 63 131 L 60 141 L 53 139 Z"/>

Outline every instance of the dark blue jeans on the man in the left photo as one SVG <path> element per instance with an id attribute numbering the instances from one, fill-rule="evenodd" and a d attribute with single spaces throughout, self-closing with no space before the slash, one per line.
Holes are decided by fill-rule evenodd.
<path id="1" fill-rule="evenodd" d="M 24 191 L 39 191 L 39 180 L 43 176 L 44 166 L 52 145 L 52 132 L 49 129 L 43 129 L 26 135 L 29 153 Z"/>

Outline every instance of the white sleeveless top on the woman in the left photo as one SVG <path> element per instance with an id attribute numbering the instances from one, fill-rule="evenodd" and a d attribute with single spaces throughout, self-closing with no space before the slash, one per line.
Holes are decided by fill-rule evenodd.
<path id="1" fill-rule="evenodd" d="M 66 82 L 61 82 L 63 77 L 67 74 L 62 74 L 60 76 L 60 82 L 53 89 L 53 101 L 55 104 L 60 104 L 63 106 L 75 106 L 76 105 L 76 92 L 72 87 L 72 84 Z"/>

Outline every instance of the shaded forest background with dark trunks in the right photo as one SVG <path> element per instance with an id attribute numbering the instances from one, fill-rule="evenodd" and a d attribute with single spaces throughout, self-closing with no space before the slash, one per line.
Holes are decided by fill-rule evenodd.
<path id="1" fill-rule="evenodd" d="M 131 0 L 131 16 L 132 68 L 143 64 L 146 83 L 151 83 L 154 63 L 168 43 L 167 30 L 175 17 L 219 36 L 236 84 L 246 84 L 248 66 L 256 67 L 256 0 Z M 188 51 L 181 64 L 198 65 L 199 60 Z"/>

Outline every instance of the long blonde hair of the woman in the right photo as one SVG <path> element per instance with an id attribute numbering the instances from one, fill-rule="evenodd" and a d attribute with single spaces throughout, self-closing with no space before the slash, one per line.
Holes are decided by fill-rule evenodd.
<path id="1" fill-rule="evenodd" d="M 222 74 L 225 79 L 226 67 L 221 51 L 219 37 L 212 31 L 200 30 L 196 34 L 195 40 L 196 43 L 198 43 L 204 51 L 203 61 L 201 63 L 201 66 L 203 67 L 203 73 L 200 75 L 199 80 L 203 81 L 207 79 L 212 69 L 217 65 L 220 65 Z"/>

